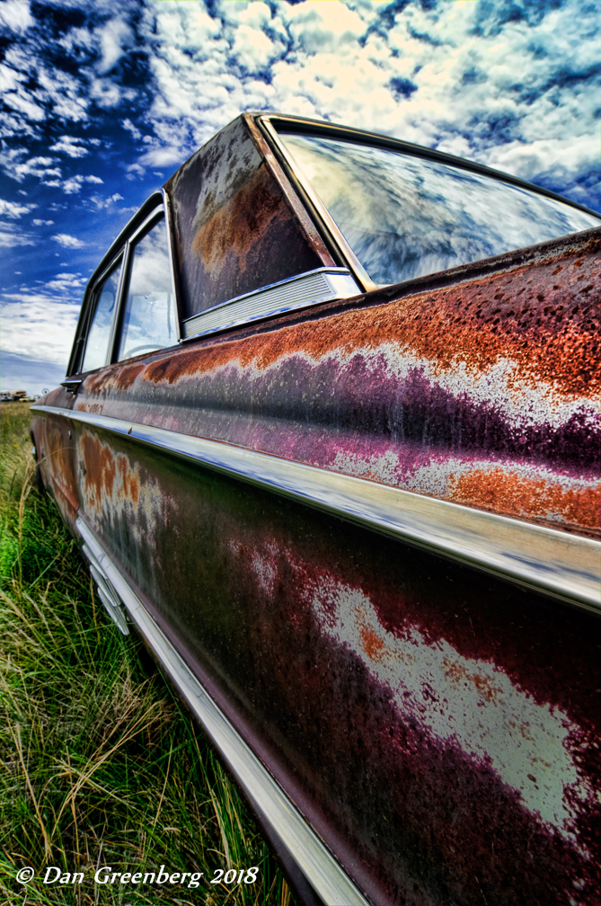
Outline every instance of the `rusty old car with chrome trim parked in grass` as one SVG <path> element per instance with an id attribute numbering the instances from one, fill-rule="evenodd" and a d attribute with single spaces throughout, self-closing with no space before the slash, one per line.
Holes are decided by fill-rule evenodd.
<path id="1" fill-rule="evenodd" d="M 601 218 L 244 113 L 91 276 L 43 485 L 297 900 L 593 906 Z"/>

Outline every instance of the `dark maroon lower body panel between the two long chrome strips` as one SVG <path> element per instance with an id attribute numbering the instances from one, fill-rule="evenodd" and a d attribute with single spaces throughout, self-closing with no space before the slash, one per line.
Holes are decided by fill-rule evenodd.
<path id="1" fill-rule="evenodd" d="M 77 456 L 91 526 L 372 902 L 598 902 L 585 615 L 127 438 Z"/>

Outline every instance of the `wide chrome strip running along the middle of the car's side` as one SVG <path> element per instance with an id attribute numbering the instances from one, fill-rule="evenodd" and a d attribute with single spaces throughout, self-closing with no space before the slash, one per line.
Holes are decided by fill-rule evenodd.
<path id="1" fill-rule="evenodd" d="M 462 564 L 601 612 L 601 543 L 366 478 L 90 412 L 33 405 L 292 497 Z"/>

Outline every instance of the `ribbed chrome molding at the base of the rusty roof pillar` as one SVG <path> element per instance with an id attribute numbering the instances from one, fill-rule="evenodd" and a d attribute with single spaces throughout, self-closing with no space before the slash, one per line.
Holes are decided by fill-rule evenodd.
<path id="1" fill-rule="evenodd" d="M 318 267 L 288 280 L 262 286 L 253 293 L 238 295 L 186 318 L 182 339 L 193 340 L 236 324 L 250 323 L 306 305 L 348 299 L 362 292 L 347 267 Z"/>

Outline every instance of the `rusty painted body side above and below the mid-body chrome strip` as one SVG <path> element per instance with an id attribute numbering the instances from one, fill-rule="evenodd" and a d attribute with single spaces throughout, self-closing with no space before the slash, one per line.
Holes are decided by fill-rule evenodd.
<path id="1" fill-rule="evenodd" d="M 594 536 L 599 236 L 112 365 L 75 409 Z M 81 514 L 371 901 L 598 901 L 593 618 L 77 431 Z"/>

